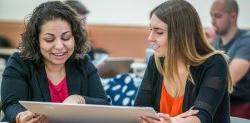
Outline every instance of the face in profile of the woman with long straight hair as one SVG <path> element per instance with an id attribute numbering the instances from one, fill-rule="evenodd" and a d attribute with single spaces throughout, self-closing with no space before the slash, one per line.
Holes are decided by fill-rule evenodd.
<path id="1" fill-rule="evenodd" d="M 154 45 L 154 54 L 164 57 L 167 50 L 167 24 L 161 21 L 155 14 L 150 19 L 150 34 L 148 40 Z"/>

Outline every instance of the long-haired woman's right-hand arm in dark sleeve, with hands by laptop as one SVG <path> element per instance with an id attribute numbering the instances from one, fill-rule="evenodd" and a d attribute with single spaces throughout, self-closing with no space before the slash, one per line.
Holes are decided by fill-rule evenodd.
<path id="1" fill-rule="evenodd" d="M 186 111 L 176 117 L 159 114 L 160 120 L 141 117 L 140 123 L 211 123 L 227 91 L 227 63 L 221 55 L 212 56 L 206 64 L 194 109 L 199 112 Z M 195 85 L 197 86 L 197 85 Z M 228 105 L 223 105 L 229 107 Z M 189 113 L 190 112 L 190 113 Z M 226 114 L 224 114 L 226 115 Z"/>

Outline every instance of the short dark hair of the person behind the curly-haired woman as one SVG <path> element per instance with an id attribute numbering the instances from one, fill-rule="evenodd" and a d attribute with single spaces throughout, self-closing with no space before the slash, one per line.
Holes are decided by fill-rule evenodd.
<path id="1" fill-rule="evenodd" d="M 70 6 L 80 15 L 86 15 L 89 13 L 89 10 L 81 2 L 77 0 L 66 0 L 64 3 Z"/>

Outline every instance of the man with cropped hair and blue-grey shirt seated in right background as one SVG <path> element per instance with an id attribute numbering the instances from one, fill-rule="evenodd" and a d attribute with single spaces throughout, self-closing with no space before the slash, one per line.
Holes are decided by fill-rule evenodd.
<path id="1" fill-rule="evenodd" d="M 231 115 L 250 119 L 250 32 L 238 28 L 238 13 L 235 0 L 213 2 L 210 14 L 217 34 L 213 46 L 230 56 Z"/>

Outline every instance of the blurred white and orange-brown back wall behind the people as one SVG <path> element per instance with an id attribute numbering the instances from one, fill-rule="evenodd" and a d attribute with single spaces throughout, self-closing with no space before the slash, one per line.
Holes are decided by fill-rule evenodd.
<path id="1" fill-rule="evenodd" d="M 24 19 L 47 0 L 1 0 L 0 36 L 17 47 Z M 144 58 L 148 46 L 149 12 L 165 0 L 79 0 L 90 11 L 87 18 L 92 46 L 112 57 Z M 197 9 L 204 28 L 211 27 L 212 0 L 188 0 Z M 250 28 L 250 0 L 239 0 L 240 28 Z"/>

